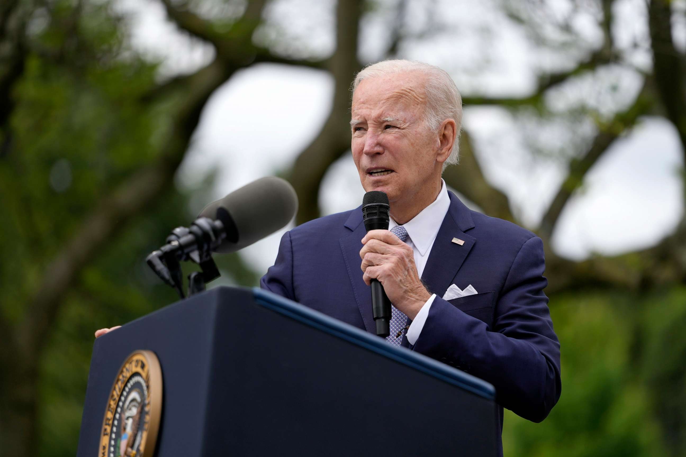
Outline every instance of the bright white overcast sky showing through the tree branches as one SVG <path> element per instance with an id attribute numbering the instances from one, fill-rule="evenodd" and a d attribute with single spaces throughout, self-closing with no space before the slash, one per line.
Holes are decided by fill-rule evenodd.
<path id="1" fill-rule="evenodd" d="M 532 57 L 530 40 L 504 14 L 497 13 L 493 1 L 438 2 L 451 5 L 442 10 L 440 21 L 454 27 L 447 27 L 440 36 L 410 40 L 401 48 L 403 57 L 442 66 L 464 95 L 516 96 L 530 92 L 536 84 L 536 68 L 558 65 L 559 58 L 546 51 Z M 122 0 L 121 8 L 130 12 L 133 44 L 163 61 L 161 77 L 193 71 L 213 58 L 212 47 L 179 33 L 157 1 Z M 428 19 L 421 2 L 410 2 L 410 9 L 413 19 L 407 27 L 411 32 L 413 27 L 421 29 Z M 617 40 L 645 36 L 643 9 L 640 0 L 617 3 L 620 23 L 615 28 L 621 31 Z M 332 12 L 331 0 L 281 0 L 266 16 L 273 29 L 279 28 L 279 36 L 285 37 L 282 42 L 297 44 L 295 51 L 283 51 L 300 49 L 305 55 L 325 56 L 334 46 Z M 363 60 L 381 58 L 393 20 L 394 15 L 383 8 L 366 19 L 361 35 Z M 574 24 L 591 47 L 601 38 L 593 21 L 593 12 L 589 12 Z M 675 35 L 686 37 L 684 27 L 680 27 Z M 268 33 L 262 33 L 269 38 Z M 489 51 L 485 62 L 484 47 Z M 638 66 L 650 62 L 649 55 L 640 50 L 632 60 Z M 611 82 L 608 84 L 615 84 L 616 97 L 594 99 L 598 109 L 603 112 L 621 107 L 638 90 L 640 78 L 621 69 L 606 73 L 595 79 L 589 76 L 589 81 L 595 82 L 582 78 L 576 86 L 565 89 L 569 93 L 554 94 L 551 106 L 557 104 L 560 110 L 573 106 L 578 103 L 578 93 L 606 77 Z M 602 95 L 608 92 L 600 87 L 604 89 Z M 202 113 L 178 184 L 193 188 L 207 173 L 215 172 L 213 197 L 220 198 L 258 177 L 288 169 L 322 127 L 331 108 L 332 91 L 333 79 L 324 71 L 272 64 L 239 71 L 215 92 Z M 532 127 L 523 126 L 521 119 L 500 108 L 466 108 L 464 128 L 473 138 L 486 177 L 509 195 L 514 211 L 525 224 L 535 225 L 563 180 L 565 161 L 554 154 L 532 153 Z M 539 134 L 536 129 L 533 132 L 534 136 Z M 545 135 L 555 135 L 558 140 L 568 136 L 572 142 L 578 132 L 564 128 L 558 132 L 548 126 L 541 129 L 543 141 Z M 554 249 L 570 258 L 584 258 L 593 251 L 617 254 L 653 245 L 672 232 L 681 218 L 682 169 L 681 145 L 674 127 L 659 118 L 642 119 L 587 175 L 582 192 L 571 199 L 558 223 Z M 348 155 L 334 164 L 324 179 L 322 212 L 355 208 L 363 195 Z M 202 207 L 204 203 L 193 204 Z M 276 258 L 281 234 L 283 231 L 244 249 L 241 255 L 263 273 Z"/>

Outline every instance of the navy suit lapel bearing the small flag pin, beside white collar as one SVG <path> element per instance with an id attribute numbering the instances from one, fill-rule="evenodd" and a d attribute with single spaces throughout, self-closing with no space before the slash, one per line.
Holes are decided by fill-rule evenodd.
<path id="1" fill-rule="evenodd" d="M 429 286 L 429 292 L 442 297 L 462 267 L 476 241 L 473 236 L 464 232 L 474 227 L 469 208 L 453 193 L 450 197 L 450 208 L 440 225 L 429 259 L 424 267 L 422 280 Z M 463 245 L 453 243 L 453 238 L 464 241 Z"/>

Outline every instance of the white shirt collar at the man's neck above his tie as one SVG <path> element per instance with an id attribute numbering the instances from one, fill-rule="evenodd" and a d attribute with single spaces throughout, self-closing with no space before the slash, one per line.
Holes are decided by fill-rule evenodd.
<path id="1" fill-rule="evenodd" d="M 438 235 L 440 225 L 443 223 L 449 208 L 450 197 L 448 196 L 448 189 L 445 187 L 445 181 L 440 180 L 440 192 L 434 203 L 421 210 L 412 221 L 403 224 L 403 227 L 407 230 L 407 235 L 410 236 L 414 247 L 417 248 L 422 257 L 426 255 L 427 250 L 434 243 L 434 239 Z M 396 221 L 391 218 L 388 229 L 397 227 L 397 225 Z"/>

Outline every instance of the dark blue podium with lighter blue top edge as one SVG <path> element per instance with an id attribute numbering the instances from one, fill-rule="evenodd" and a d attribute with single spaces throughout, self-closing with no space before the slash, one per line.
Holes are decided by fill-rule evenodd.
<path id="1" fill-rule="evenodd" d="M 97 338 L 78 456 L 110 455 L 110 391 L 139 349 L 163 378 L 156 456 L 497 452 L 490 384 L 272 293 L 219 287 Z"/>

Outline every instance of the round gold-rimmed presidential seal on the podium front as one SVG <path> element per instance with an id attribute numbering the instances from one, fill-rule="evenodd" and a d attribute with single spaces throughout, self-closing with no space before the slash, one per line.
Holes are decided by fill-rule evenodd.
<path id="1" fill-rule="evenodd" d="M 162 370 L 152 351 L 135 351 L 110 391 L 98 457 L 152 457 L 162 412 Z"/>

